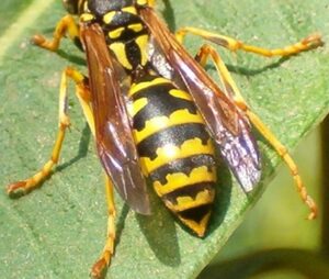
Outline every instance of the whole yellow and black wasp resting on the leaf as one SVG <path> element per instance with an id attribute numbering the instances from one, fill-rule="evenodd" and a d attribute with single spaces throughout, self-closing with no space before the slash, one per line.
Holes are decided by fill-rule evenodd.
<path id="1" fill-rule="evenodd" d="M 54 38 L 35 35 L 36 45 L 57 51 L 65 35 L 87 56 L 89 76 L 67 67 L 59 90 L 58 135 L 50 159 L 34 176 L 8 186 L 9 196 L 25 194 L 45 180 L 58 163 L 70 125 L 67 83 L 76 94 L 95 138 L 105 172 L 109 207 L 104 249 L 91 269 L 102 278 L 115 246 L 113 188 L 140 214 L 150 214 L 146 179 L 166 207 L 197 236 L 203 237 L 215 197 L 216 149 L 250 192 L 261 178 L 261 159 L 251 124 L 268 140 L 292 171 L 303 201 L 317 207 L 302 182 L 287 149 L 252 112 L 216 49 L 204 44 L 195 57 L 183 47 L 186 34 L 201 36 L 229 51 L 263 56 L 290 56 L 322 44 L 320 35 L 277 49 L 245 44 L 195 27 L 175 34 L 156 14 L 155 0 L 64 0 L 68 15 L 57 24 Z M 76 23 L 73 15 L 79 16 Z M 214 63 L 222 87 L 205 71 Z"/>

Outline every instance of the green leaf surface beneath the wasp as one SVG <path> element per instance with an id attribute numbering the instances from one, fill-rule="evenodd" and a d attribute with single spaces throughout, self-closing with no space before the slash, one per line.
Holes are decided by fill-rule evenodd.
<path id="1" fill-rule="evenodd" d="M 29 43 L 35 33 L 52 35 L 56 22 L 65 14 L 60 1 L 35 0 L 18 12 L 14 1 L 5 3 L 0 14 L 11 9 L 15 19 L 1 25 L 5 30 L 0 33 L 3 187 L 34 174 L 48 159 L 56 136 L 58 86 L 64 67 L 71 65 L 87 71 L 80 63 L 83 54 L 69 40 L 61 44 L 59 55 Z M 193 0 L 169 4 L 164 10 L 159 1 L 159 13 L 163 12 L 171 27 L 192 25 L 271 47 L 295 43 L 315 31 L 329 42 L 329 8 L 325 0 Z M 191 54 L 201 44 L 196 37 L 186 40 Z M 286 60 L 219 52 L 250 107 L 288 149 L 327 114 L 326 46 Z M 216 77 L 211 66 L 209 72 Z M 73 87 L 71 92 L 73 126 L 65 140 L 57 172 L 41 189 L 19 200 L 10 200 L 4 191 L 0 194 L 3 278 L 87 278 L 103 247 L 106 204 L 102 170 Z M 116 196 L 118 239 L 107 277 L 195 278 L 260 198 L 281 161 L 256 134 L 263 157 L 263 182 L 247 198 L 222 164 L 214 214 L 203 239 L 184 230 L 152 191 L 150 217 L 129 211 Z"/>

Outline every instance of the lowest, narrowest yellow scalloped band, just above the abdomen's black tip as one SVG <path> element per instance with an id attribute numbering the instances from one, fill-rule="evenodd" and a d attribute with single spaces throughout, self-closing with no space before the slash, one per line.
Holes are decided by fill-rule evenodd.
<path id="1" fill-rule="evenodd" d="M 173 204 L 170 201 L 166 201 L 166 205 L 173 212 L 180 212 L 189 209 L 194 209 L 201 205 L 209 204 L 214 201 L 215 193 L 205 189 L 198 192 L 195 197 L 195 200 L 191 197 L 178 197 L 178 204 Z"/>

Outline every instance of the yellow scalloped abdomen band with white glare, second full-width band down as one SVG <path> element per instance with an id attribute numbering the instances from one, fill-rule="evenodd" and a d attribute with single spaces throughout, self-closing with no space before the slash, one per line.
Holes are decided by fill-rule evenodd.
<path id="1" fill-rule="evenodd" d="M 164 145 L 159 147 L 156 153 L 157 157 L 154 160 L 148 157 L 140 157 L 140 163 L 147 174 L 150 174 L 155 169 L 175 159 L 186 158 L 198 154 L 213 155 L 214 146 L 211 140 L 206 145 L 203 145 L 200 138 L 193 138 L 185 141 L 181 147 L 171 144 Z"/>

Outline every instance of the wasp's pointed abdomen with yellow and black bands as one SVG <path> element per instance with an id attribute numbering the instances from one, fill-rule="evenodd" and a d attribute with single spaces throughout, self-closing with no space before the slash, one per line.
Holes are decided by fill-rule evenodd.
<path id="1" fill-rule="evenodd" d="M 132 86 L 129 113 L 144 168 L 157 194 L 202 236 L 214 200 L 213 142 L 191 96 L 162 77 Z"/>

